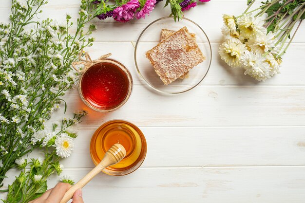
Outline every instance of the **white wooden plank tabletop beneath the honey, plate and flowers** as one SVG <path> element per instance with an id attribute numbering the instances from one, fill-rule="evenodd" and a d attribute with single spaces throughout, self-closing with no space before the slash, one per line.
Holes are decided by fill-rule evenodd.
<path id="1" fill-rule="evenodd" d="M 42 18 L 61 21 L 67 12 L 76 17 L 79 1 L 50 0 Z M 89 115 L 78 126 L 74 153 L 62 161 L 63 174 L 76 181 L 85 175 L 94 166 L 89 143 L 95 129 L 125 119 L 144 132 L 146 160 L 124 177 L 98 175 L 84 188 L 85 203 L 304 203 L 305 24 L 284 56 L 282 74 L 259 83 L 218 56 L 222 14 L 240 14 L 246 0 L 211 0 L 191 9 L 186 17 L 212 42 L 210 72 L 190 92 L 166 96 L 150 91 L 137 75 L 131 43 L 148 23 L 169 14 L 163 5 L 145 20 L 96 20 L 96 41 L 87 51 L 93 58 L 111 52 L 124 63 L 133 75 L 133 94 L 123 108 L 103 114 L 87 108 L 76 89 L 67 93 L 67 114 L 83 108 Z M 9 8 L 10 0 L 2 0 L 1 21 L 8 21 Z M 50 178 L 49 186 L 57 181 Z"/>

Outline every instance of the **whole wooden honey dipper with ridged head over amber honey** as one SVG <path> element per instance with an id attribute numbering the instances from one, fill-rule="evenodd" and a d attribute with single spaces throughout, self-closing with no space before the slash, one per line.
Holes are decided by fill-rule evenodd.
<path id="1" fill-rule="evenodd" d="M 60 203 L 67 203 L 73 197 L 73 194 L 77 189 L 85 186 L 104 168 L 118 163 L 125 156 L 126 149 L 121 144 L 114 144 L 111 148 L 108 149 L 102 161 L 66 192 Z"/>

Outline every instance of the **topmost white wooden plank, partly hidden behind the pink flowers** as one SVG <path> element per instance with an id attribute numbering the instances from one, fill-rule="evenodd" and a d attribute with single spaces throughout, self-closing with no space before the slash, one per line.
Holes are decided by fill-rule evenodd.
<path id="1" fill-rule="evenodd" d="M 8 3 L 9 2 L 9 3 Z M 71 14 L 76 19 L 78 16 L 79 0 L 68 0 L 66 2 L 60 0 L 50 0 L 50 3 L 43 7 L 43 18 L 55 18 L 58 22 L 65 22 L 65 13 Z M 94 36 L 97 41 L 136 41 L 142 30 L 153 20 L 168 16 L 170 8 L 163 9 L 165 0 L 160 2 L 151 16 L 142 20 L 132 20 L 130 23 L 114 22 L 113 19 L 100 21 L 95 19 L 97 31 Z M 238 5 L 238 6 L 237 6 Z M 2 20 L 8 21 L 10 14 L 10 1 L 0 8 Z M 219 0 L 211 1 L 206 4 L 200 4 L 194 9 L 185 12 L 185 17 L 197 22 L 208 34 L 210 40 L 218 42 L 222 38 L 220 28 L 222 26 L 222 14 L 241 15 L 246 9 L 246 1 Z M 217 25 L 217 26 L 215 26 Z M 294 42 L 305 42 L 302 33 L 305 32 L 305 26 L 301 26 Z M 110 34 L 111 33 L 111 34 Z"/>

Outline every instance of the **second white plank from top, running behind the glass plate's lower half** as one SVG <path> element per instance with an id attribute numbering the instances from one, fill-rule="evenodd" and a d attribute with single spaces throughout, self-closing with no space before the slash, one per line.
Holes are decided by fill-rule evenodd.
<path id="1" fill-rule="evenodd" d="M 302 68 L 305 64 L 305 57 L 303 57 L 305 44 L 303 43 L 290 45 L 283 59 L 281 74 L 277 74 L 265 82 L 258 82 L 254 78 L 244 75 L 243 69 L 233 69 L 225 64 L 218 55 L 219 45 L 219 43 L 212 43 L 210 70 L 200 85 L 305 85 L 305 69 Z M 95 42 L 86 51 L 93 59 L 106 53 L 112 53 L 112 58 L 122 62 L 129 69 L 135 85 L 145 85 L 135 69 L 134 48 L 131 42 Z M 185 84 L 188 84 L 188 80 L 185 80 Z"/>

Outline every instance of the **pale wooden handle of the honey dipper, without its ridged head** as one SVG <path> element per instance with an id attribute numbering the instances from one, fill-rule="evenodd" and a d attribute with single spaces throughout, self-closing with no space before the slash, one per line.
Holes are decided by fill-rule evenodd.
<path id="1" fill-rule="evenodd" d="M 106 166 L 107 167 L 107 166 Z M 82 188 L 83 186 L 85 186 L 87 183 L 89 183 L 93 177 L 95 177 L 95 175 L 97 175 L 99 172 L 101 172 L 103 169 L 105 168 L 105 166 L 100 166 L 97 165 L 95 166 L 94 169 L 92 169 L 87 175 L 85 175 L 85 177 L 83 177 L 82 179 L 80 179 L 80 181 L 78 181 L 75 185 L 73 185 L 64 195 L 64 197 L 61 199 L 60 203 L 67 203 L 72 197 L 73 194 L 75 193 L 75 191 L 79 188 Z"/>

